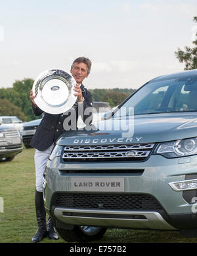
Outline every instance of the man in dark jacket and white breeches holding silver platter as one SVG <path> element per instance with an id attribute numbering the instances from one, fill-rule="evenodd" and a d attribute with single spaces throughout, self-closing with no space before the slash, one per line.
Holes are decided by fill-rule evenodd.
<path id="1" fill-rule="evenodd" d="M 74 122 L 74 124 L 76 124 L 77 117 L 79 116 L 79 113 L 81 113 L 80 109 L 83 109 L 83 113 L 82 113 L 83 122 L 89 119 L 89 124 L 91 123 L 92 112 L 89 111 L 88 113 L 85 113 L 85 110 L 87 108 L 92 107 L 93 96 L 82 84 L 83 80 L 89 76 L 90 70 L 91 70 L 91 61 L 85 57 L 79 57 L 74 61 L 70 70 L 72 74 L 72 78 L 74 78 L 75 80 L 74 82 L 75 85 L 73 86 L 73 88 L 72 86 L 68 85 L 68 89 L 67 89 L 66 83 L 63 84 L 64 78 L 67 78 L 67 76 L 69 75 L 62 70 L 55 70 L 51 80 L 50 80 L 50 77 L 51 77 L 50 75 L 45 76 L 45 79 L 43 79 L 43 81 L 45 82 L 43 81 L 40 82 L 41 78 L 39 78 L 37 82 L 35 82 L 35 86 L 34 86 L 35 90 L 30 91 L 30 99 L 32 101 L 33 113 L 36 116 L 39 116 L 42 113 L 45 113 L 31 141 L 32 147 L 35 147 L 35 155 L 34 155 L 35 212 L 36 212 L 37 226 L 38 226 L 37 232 L 35 233 L 35 236 L 33 236 L 32 238 L 32 242 L 34 243 L 40 242 L 41 240 L 43 240 L 43 238 L 47 236 L 52 240 L 58 239 L 58 236 L 53 226 L 53 219 L 49 217 L 47 224 L 45 220 L 46 211 L 43 203 L 43 186 L 42 186 L 43 172 L 45 171 L 45 166 L 49 159 L 49 155 L 51 154 L 51 151 L 54 147 L 54 143 L 56 139 L 62 134 L 62 132 L 65 131 L 64 120 L 69 116 L 67 113 L 66 114 L 58 113 L 58 111 L 62 111 L 63 108 L 64 109 L 69 108 L 76 111 L 76 115 L 74 115 L 76 116 L 76 118 L 71 118 L 71 122 Z M 54 71 L 54 70 L 50 70 L 50 71 Z M 53 78 L 55 78 L 55 80 L 53 80 Z M 53 82 L 53 84 L 51 83 L 51 81 Z M 56 82 L 55 84 L 54 84 L 54 81 Z M 61 93 L 61 90 L 62 90 L 62 93 Z M 47 97 L 49 97 L 49 95 L 52 95 L 52 96 L 54 95 L 51 101 L 49 99 L 49 102 L 43 105 L 43 108 L 42 108 L 42 103 L 40 104 L 41 107 L 40 105 L 38 106 L 37 104 L 39 103 L 40 91 L 41 93 L 43 93 L 42 96 L 40 96 L 40 98 L 41 98 L 41 101 L 43 101 L 44 103 L 45 103 L 46 95 Z M 65 100 L 64 95 L 65 97 L 67 97 L 68 100 Z M 60 100 L 62 98 L 62 102 L 61 102 L 62 104 L 57 103 L 56 104 L 57 107 L 56 109 L 54 107 L 55 111 L 53 111 L 53 106 L 55 106 L 54 102 L 55 102 L 56 96 Z M 70 103 L 69 101 L 72 101 L 72 103 Z M 52 105 L 51 110 L 47 112 L 46 109 L 47 108 L 50 109 L 51 105 Z M 69 112 L 69 109 L 67 112 Z M 76 127 L 76 125 L 72 126 L 71 124 L 71 127 Z"/>

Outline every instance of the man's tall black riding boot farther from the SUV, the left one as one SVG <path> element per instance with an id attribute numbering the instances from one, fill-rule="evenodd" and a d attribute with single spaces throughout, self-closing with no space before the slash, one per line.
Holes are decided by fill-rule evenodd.
<path id="1" fill-rule="evenodd" d="M 35 212 L 36 212 L 38 229 L 37 229 L 37 232 L 35 233 L 35 236 L 33 236 L 32 238 L 32 242 L 38 243 L 47 237 L 47 228 L 46 228 L 46 211 L 44 207 L 43 193 L 37 192 L 37 190 L 35 190 Z"/>

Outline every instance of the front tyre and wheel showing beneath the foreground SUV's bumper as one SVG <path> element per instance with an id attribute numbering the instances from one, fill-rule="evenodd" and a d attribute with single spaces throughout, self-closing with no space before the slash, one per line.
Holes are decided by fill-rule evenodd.
<path id="1" fill-rule="evenodd" d="M 73 230 L 56 228 L 60 236 L 67 242 L 91 242 L 102 238 L 106 228 L 99 226 L 75 226 Z"/>

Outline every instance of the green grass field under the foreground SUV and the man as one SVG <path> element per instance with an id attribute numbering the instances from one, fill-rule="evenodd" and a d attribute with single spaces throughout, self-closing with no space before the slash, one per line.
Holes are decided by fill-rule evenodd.
<path id="1" fill-rule="evenodd" d="M 37 230 L 34 207 L 35 149 L 25 149 L 9 163 L 0 163 L 0 243 L 30 243 Z M 45 238 L 41 243 L 62 243 L 59 238 Z M 183 238 L 179 232 L 108 229 L 101 243 L 196 243 L 197 238 Z"/>

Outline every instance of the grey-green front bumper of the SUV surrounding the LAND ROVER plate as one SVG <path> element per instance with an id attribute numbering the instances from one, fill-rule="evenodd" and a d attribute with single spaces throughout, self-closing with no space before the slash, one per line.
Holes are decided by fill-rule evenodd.
<path id="1" fill-rule="evenodd" d="M 191 177 L 197 178 L 196 166 L 196 156 L 166 159 L 160 155 L 152 155 L 148 161 L 142 163 L 99 162 L 88 164 L 62 164 L 56 157 L 47 163 L 44 190 L 45 207 L 56 220 L 68 224 L 161 230 L 197 228 L 197 215 L 192 211 L 192 207 L 194 207 L 192 198 L 196 196 L 196 190 L 175 191 L 169 186 L 171 182 L 179 182 Z M 94 173 L 91 173 L 91 170 L 94 170 Z M 108 173 L 108 170 L 116 170 L 116 172 Z M 162 210 L 130 209 L 125 211 L 124 209 L 99 209 L 99 207 L 98 209 L 83 207 L 79 209 L 54 205 L 53 197 L 56 192 L 75 193 L 72 190 L 72 177 L 87 177 L 88 180 L 89 177 L 120 176 L 125 179 L 125 189 L 124 192 L 117 193 L 121 195 L 128 193 L 152 195 L 162 205 Z M 91 195 L 93 192 L 85 192 L 83 188 L 81 193 Z M 96 193 L 108 194 L 108 192 L 102 191 Z M 115 192 L 112 193 L 115 194 Z M 186 196 L 184 193 L 187 193 Z M 116 205 L 116 202 L 114 204 Z"/>

